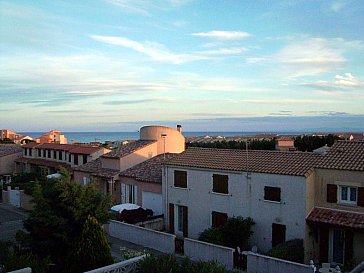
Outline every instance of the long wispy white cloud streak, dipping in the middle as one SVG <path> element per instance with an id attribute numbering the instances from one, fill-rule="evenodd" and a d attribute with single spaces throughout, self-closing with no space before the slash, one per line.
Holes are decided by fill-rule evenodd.
<path id="1" fill-rule="evenodd" d="M 244 47 L 234 47 L 179 54 L 174 53 L 168 50 L 164 45 L 155 42 L 141 43 L 125 37 L 115 36 L 91 35 L 90 37 L 98 42 L 130 48 L 134 51 L 147 55 L 155 61 L 172 64 L 208 60 L 215 56 L 236 55 L 247 51 Z"/>

